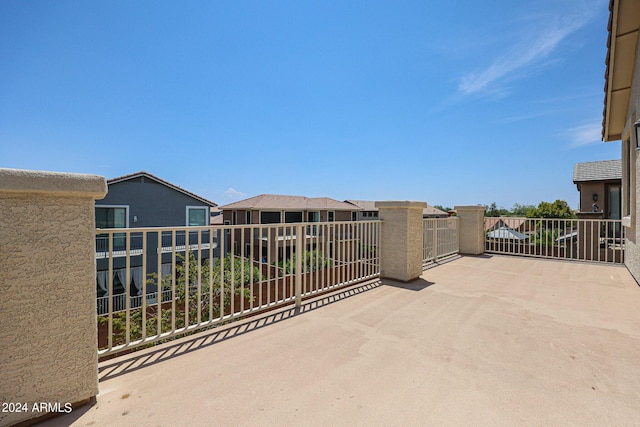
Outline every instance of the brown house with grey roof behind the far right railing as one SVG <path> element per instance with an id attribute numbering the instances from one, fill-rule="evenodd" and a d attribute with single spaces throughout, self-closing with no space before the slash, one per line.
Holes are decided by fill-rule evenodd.
<path id="1" fill-rule="evenodd" d="M 622 160 L 576 163 L 573 183 L 580 192 L 580 212 L 602 212 L 621 218 Z"/>

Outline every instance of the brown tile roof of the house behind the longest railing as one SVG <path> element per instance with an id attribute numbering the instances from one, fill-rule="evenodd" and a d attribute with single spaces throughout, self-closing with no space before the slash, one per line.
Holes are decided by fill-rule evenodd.
<path id="1" fill-rule="evenodd" d="M 280 194 L 261 194 L 220 207 L 230 209 L 302 209 L 302 210 L 336 210 L 357 211 L 357 206 L 339 202 L 328 197 L 284 196 Z"/>

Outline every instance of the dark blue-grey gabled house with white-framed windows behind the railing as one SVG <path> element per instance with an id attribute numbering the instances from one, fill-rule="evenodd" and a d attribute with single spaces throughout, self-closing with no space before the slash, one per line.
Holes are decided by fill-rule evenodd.
<path id="1" fill-rule="evenodd" d="M 216 204 L 210 200 L 191 193 L 177 185 L 171 184 L 148 172 L 136 172 L 130 175 L 113 178 L 107 181 L 107 196 L 96 201 L 96 228 L 127 229 L 137 227 L 186 227 L 207 226 L 210 224 L 210 211 L 216 209 Z M 202 241 L 209 242 L 209 231 L 200 233 Z M 191 234 L 191 233 L 189 233 Z M 158 255 L 153 247 L 169 247 L 175 245 L 178 252 L 184 253 L 187 244 L 191 249 L 198 249 L 197 235 L 187 236 L 185 231 L 176 232 L 175 242 L 170 232 L 148 234 L 146 236 L 147 257 L 146 274 L 156 273 L 163 277 L 171 272 L 172 253 L 162 251 L 162 266 L 158 267 Z M 218 256 L 217 236 L 212 236 L 213 253 Z M 96 266 L 98 313 L 104 311 L 109 294 L 109 279 L 113 281 L 114 307 L 124 307 L 126 283 L 126 250 L 130 256 L 130 290 L 131 297 L 140 296 L 143 282 L 146 280 L 143 272 L 143 236 L 142 233 L 132 232 L 127 238 L 125 233 L 116 233 L 113 238 L 108 234 L 96 237 Z M 159 240 L 162 240 L 159 242 Z M 193 245 L 196 245 L 193 247 Z M 113 258 L 109 260 L 109 246 L 111 245 Z M 199 249 L 203 257 L 209 256 L 211 243 L 201 244 Z M 165 253 L 166 252 L 166 253 Z M 109 262 L 112 263 L 113 277 L 109 278 Z M 158 271 L 159 270 L 159 271 Z M 147 286 L 147 294 L 156 294 L 155 285 Z M 154 297 L 155 298 L 155 297 Z M 139 298 L 137 301 L 139 302 Z M 135 305 L 134 302 L 132 305 Z"/>

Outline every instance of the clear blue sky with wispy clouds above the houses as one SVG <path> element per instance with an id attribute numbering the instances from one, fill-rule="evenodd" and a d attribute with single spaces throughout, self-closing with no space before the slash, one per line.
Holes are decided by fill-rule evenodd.
<path id="1" fill-rule="evenodd" d="M 3 1 L 0 167 L 578 207 L 608 0 Z"/>

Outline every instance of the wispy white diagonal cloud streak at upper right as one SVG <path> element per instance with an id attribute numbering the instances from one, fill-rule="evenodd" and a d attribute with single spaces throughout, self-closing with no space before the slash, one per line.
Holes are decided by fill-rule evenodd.
<path id="1" fill-rule="evenodd" d="M 586 5 L 585 5 L 586 6 Z M 593 17 L 592 9 L 576 8 L 577 12 L 562 16 L 539 16 L 519 35 L 520 41 L 484 70 L 463 76 L 458 91 L 463 95 L 495 94 L 504 89 L 500 83 L 526 75 L 530 66 L 539 65 L 573 32 L 582 28 Z M 513 39 L 513 36 L 510 36 Z"/>

